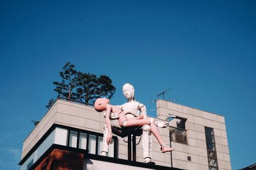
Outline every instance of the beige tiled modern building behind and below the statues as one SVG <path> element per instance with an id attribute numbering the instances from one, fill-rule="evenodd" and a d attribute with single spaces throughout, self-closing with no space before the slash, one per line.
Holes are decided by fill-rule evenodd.
<path id="1" fill-rule="evenodd" d="M 127 139 L 118 136 L 113 138 L 108 156 L 100 156 L 105 122 L 102 113 L 92 106 L 62 99 L 56 101 L 25 139 L 19 165 L 22 170 L 231 169 L 223 116 L 163 100 L 156 104 L 157 120 L 169 122 L 169 127 L 159 131 L 175 151 L 161 153 L 152 137 L 155 165 L 143 163 L 141 143 L 136 146 L 136 161 L 127 160 Z"/>

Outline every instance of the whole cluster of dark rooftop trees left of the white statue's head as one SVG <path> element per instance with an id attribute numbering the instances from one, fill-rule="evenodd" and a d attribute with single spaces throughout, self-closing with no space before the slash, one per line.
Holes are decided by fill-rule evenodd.
<path id="1" fill-rule="evenodd" d="M 54 81 L 58 97 L 83 101 L 84 103 L 93 103 L 99 97 L 111 99 L 115 94 L 116 88 L 112 85 L 109 76 L 82 73 L 75 69 L 74 64 L 67 62 L 60 71 L 61 81 Z M 51 99 L 46 108 L 50 109 L 56 100 Z"/>

